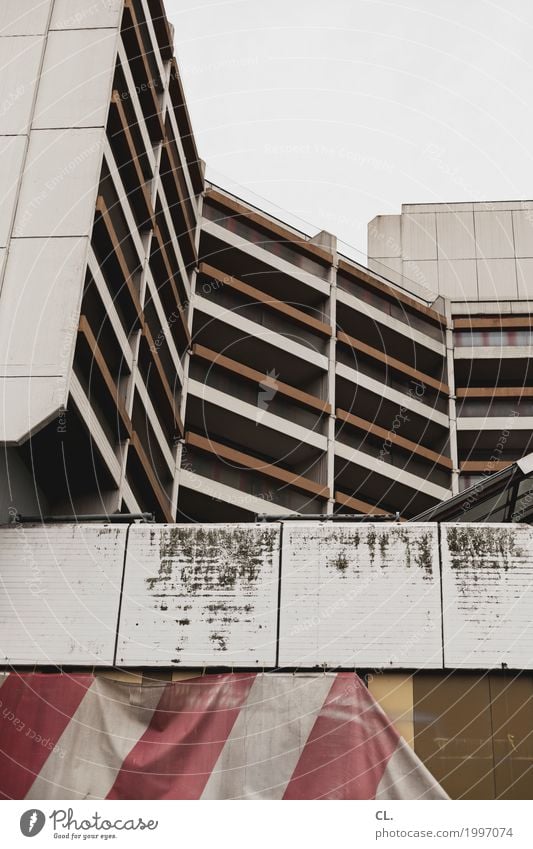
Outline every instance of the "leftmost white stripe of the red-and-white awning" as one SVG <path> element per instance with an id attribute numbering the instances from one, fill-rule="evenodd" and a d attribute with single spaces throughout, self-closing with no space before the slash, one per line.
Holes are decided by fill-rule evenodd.
<path id="1" fill-rule="evenodd" d="M 162 693 L 96 678 L 26 798 L 105 799 Z"/>

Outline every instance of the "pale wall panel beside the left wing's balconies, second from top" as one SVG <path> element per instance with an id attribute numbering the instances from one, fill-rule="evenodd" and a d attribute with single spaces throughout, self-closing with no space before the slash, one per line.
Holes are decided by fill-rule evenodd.
<path id="1" fill-rule="evenodd" d="M 33 128 L 103 127 L 115 66 L 115 30 L 51 32 Z"/>

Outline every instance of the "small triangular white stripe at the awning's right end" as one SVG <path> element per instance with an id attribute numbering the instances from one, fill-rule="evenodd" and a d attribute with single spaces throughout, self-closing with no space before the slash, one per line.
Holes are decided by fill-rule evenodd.
<path id="1" fill-rule="evenodd" d="M 376 799 L 448 799 L 448 796 L 400 737 L 378 784 Z"/>

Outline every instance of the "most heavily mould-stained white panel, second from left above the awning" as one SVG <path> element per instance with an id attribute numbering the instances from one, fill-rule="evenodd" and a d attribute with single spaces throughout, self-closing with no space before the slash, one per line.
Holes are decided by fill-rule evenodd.
<path id="1" fill-rule="evenodd" d="M 119 665 L 273 665 L 278 525 L 134 526 Z"/>

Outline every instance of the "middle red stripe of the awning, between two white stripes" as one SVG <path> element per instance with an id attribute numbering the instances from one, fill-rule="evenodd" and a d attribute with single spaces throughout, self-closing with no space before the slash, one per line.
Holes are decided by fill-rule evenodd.
<path id="1" fill-rule="evenodd" d="M 108 799 L 199 799 L 255 675 L 209 675 L 165 687 Z"/>

